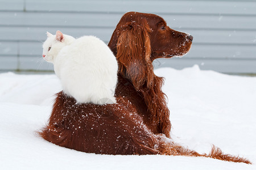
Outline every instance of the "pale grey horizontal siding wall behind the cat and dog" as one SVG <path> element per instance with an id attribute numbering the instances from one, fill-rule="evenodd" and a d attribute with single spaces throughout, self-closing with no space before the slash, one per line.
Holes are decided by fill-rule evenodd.
<path id="1" fill-rule="evenodd" d="M 46 31 L 94 35 L 108 43 L 127 11 L 157 14 L 171 28 L 193 35 L 187 56 L 159 59 L 155 67 L 197 64 L 202 70 L 256 73 L 256 0 L 0 0 L 0 71 L 52 70 L 42 58 Z"/>

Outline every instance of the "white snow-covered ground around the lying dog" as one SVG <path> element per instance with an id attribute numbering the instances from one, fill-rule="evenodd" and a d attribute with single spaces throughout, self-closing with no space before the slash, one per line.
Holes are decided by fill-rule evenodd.
<path id="1" fill-rule="evenodd" d="M 162 68 L 172 138 L 198 152 L 212 144 L 256 163 L 256 77 Z M 163 155 L 96 155 L 59 147 L 36 135 L 51 112 L 59 79 L 0 74 L 1 169 L 256 169 L 244 163 Z"/>

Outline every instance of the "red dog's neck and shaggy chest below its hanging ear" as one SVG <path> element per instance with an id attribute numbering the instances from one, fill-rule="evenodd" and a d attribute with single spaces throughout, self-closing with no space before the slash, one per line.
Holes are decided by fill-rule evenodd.
<path id="1" fill-rule="evenodd" d="M 141 113 L 144 121 L 151 126 L 157 125 L 155 127 L 158 129 L 153 130 L 155 133 L 164 133 L 168 136 L 171 129 L 171 123 L 168 121 L 170 111 L 167 107 L 166 95 L 162 92 L 162 84 L 163 78 L 154 75 L 151 88 L 147 88 L 147 82 L 145 82 L 139 90 L 136 90 L 132 81 L 119 73 L 115 95 L 129 99 L 138 113 Z M 165 120 L 167 122 L 163 122 Z M 159 122 L 162 123 L 159 124 Z"/>

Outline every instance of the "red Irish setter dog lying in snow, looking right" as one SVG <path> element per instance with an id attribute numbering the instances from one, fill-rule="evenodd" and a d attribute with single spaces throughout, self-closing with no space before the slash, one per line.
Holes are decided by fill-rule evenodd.
<path id="1" fill-rule="evenodd" d="M 158 15 L 126 13 L 109 42 L 119 63 L 117 104 L 76 104 L 59 92 L 48 125 L 39 134 L 56 145 L 96 154 L 205 156 L 250 163 L 215 147 L 208 155 L 199 154 L 170 139 L 163 78 L 154 74 L 152 61 L 183 56 L 192 40 Z"/>

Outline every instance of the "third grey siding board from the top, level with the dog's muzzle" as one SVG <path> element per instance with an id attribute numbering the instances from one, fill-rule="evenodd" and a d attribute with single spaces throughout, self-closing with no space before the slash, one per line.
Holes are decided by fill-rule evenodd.
<path id="1" fill-rule="evenodd" d="M 57 30 L 73 37 L 84 35 L 94 35 L 101 40 L 108 42 L 112 36 L 114 28 L 61 28 L 61 27 L 0 27 L 0 32 L 5 32 L 0 37 L 1 40 L 26 40 L 44 41 L 46 32 L 55 34 Z M 179 31 L 188 32 L 194 37 L 196 44 L 238 44 L 256 45 L 256 31 L 211 31 L 211 30 L 189 30 L 180 28 Z"/>

